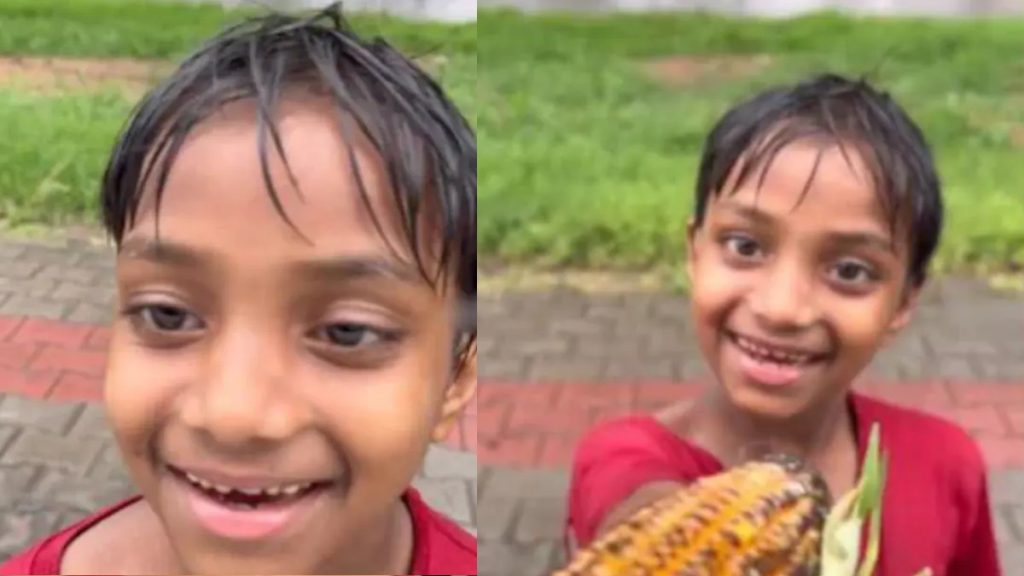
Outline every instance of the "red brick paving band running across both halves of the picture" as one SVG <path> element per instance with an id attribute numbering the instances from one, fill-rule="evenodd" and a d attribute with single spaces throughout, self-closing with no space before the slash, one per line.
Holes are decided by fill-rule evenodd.
<path id="1" fill-rule="evenodd" d="M 105 327 L 0 316 L 0 393 L 99 401 L 109 341 Z M 1024 382 L 870 382 L 859 388 L 959 423 L 993 469 L 1024 468 Z M 697 392 L 694 383 L 671 381 L 484 382 L 446 443 L 476 452 L 482 464 L 564 467 L 580 436 L 597 422 Z"/>

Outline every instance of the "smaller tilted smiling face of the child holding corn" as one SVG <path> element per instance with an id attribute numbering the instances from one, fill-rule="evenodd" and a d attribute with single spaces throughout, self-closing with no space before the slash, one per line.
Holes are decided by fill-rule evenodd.
<path id="1" fill-rule="evenodd" d="M 690 228 L 696 333 L 730 401 L 788 418 L 835 401 L 902 328 L 907 243 L 893 238 L 869 172 L 819 147 L 783 148 L 765 174 L 731 182 Z M 852 165 L 852 166 L 851 166 Z"/>

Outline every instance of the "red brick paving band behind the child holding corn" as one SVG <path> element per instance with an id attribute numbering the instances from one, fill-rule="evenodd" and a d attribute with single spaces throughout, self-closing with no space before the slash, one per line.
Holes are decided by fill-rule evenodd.
<path id="1" fill-rule="evenodd" d="M 1024 382 L 870 382 L 865 394 L 934 413 L 968 429 L 992 470 L 1024 469 Z M 477 457 L 484 465 L 566 467 L 596 422 L 693 398 L 692 382 L 484 382 Z"/>

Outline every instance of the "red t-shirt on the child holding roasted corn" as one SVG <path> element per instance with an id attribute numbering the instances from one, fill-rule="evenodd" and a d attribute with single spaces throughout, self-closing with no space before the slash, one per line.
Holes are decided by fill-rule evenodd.
<path id="1" fill-rule="evenodd" d="M 877 576 L 1000 574 L 985 465 L 957 426 L 922 412 L 860 395 L 850 404 L 858 460 L 878 422 L 889 453 Z M 568 524 L 586 545 L 611 508 L 652 482 L 690 483 L 723 470 L 722 463 L 651 416 L 601 424 L 577 448 Z"/>

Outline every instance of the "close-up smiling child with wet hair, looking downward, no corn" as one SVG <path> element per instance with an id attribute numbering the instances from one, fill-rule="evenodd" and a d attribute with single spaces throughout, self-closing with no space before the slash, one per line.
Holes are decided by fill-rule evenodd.
<path id="1" fill-rule="evenodd" d="M 139 105 L 102 208 L 141 496 L 0 572 L 476 573 L 410 488 L 476 386 L 476 143 L 434 82 L 337 6 L 249 20 Z"/>

